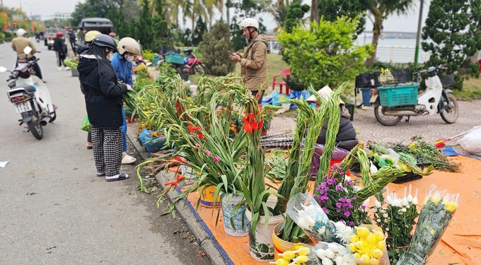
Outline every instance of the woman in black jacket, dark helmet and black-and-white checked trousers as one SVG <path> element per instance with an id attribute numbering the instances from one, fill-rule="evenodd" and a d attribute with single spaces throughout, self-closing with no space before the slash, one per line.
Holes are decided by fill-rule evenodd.
<path id="1" fill-rule="evenodd" d="M 93 39 L 92 46 L 80 55 L 79 77 L 85 95 L 88 120 L 91 123 L 93 158 L 97 176 L 108 182 L 129 178 L 120 173 L 122 160 L 122 97 L 132 87 L 120 83 L 110 59 L 117 51 L 112 37 L 102 34 Z"/>

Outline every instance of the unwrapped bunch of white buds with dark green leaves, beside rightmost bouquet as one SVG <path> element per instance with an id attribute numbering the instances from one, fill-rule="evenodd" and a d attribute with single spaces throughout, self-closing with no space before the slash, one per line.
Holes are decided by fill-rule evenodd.
<path id="1" fill-rule="evenodd" d="M 409 187 L 409 195 L 405 187 L 404 197 L 398 198 L 395 193 L 386 193 L 386 200 L 381 192 L 376 194 L 374 202 L 373 220 L 379 228 L 385 232 L 388 256 L 391 264 L 396 264 L 402 253 L 406 252 L 411 242 L 411 232 L 415 225 L 417 212 L 417 189 L 413 197 L 412 185 Z M 384 203 L 387 207 L 384 207 Z"/>

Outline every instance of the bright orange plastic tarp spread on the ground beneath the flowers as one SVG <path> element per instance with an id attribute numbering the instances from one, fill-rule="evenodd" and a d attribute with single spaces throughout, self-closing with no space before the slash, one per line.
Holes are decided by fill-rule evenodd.
<path id="1" fill-rule="evenodd" d="M 420 204 L 431 184 L 436 184 L 439 189 L 446 189 L 451 194 L 459 193 L 458 210 L 427 264 L 481 265 L 481 161 L 464 156 L 453 158 L 453 160 L 462 164 L 462 172 L 434 171 L 423 179 L 405 184 L 389 184 L 388 188 L 390 192 L 395 191 L 402 196 L 404 187 L 412 184 L 414 190 L 419 189 Z M 197 194 L 190 194 L 188 197 L 192 206 L 195 206 L 198 198 Z M 420 210 L 421 206 L 418 207 Z M 197 213 L 234 264 L 265 264 L 250 257 L 248 237 L 231 237 L 224 232 L 222 213 L 220 213 L 217 227 L 215 226 L 216 209 L 200 206 Z"/>

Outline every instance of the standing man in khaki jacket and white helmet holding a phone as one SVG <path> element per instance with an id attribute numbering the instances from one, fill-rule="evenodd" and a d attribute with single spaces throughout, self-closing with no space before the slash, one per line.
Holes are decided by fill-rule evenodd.
<path id="1" fill-rule="evenodd" d="M 243 30 L 243 35 L 249 43 L 244 48 L 243 55 L 235 52 L 229 57 L 233 61 L 240 62 L 240 75 L 244 86 L 253 95 L 257 96 L 262 87 L 262 92 L 258 95 L 259 103 L 261 103 L 265 88 L 267 88 L 267 38 L 257 32 L 259 23 L 254 18 L 245 18 L 239 23 L 239 28 Z"/>

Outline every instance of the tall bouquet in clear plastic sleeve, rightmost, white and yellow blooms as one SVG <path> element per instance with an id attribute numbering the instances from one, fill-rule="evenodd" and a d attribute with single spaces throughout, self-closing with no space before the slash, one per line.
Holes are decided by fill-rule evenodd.
<path id="1" fill-rule="evenodd" d="M 426 264 L 458 208 L 459 194 L 436 191 L 436 188 L 432 184 L 427 191 L 411 245 L 400 257 L 398 265 Z"/>

